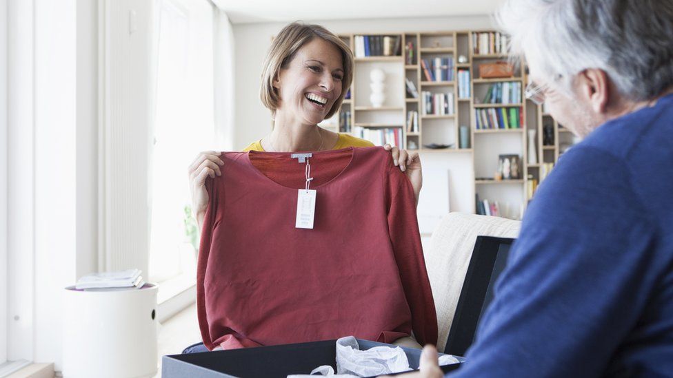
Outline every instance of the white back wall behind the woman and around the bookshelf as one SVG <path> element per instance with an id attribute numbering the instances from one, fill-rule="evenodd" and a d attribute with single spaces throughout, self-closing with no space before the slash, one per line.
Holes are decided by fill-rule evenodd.
<path id="1" fill-rule="evenodd" d="M 357 19 L 313 21 L 337 34 L 374 32 L 428 32 L 493 28 L 490 16 L 428 17 L 414 19 Z M 271 37 L 286 23 L 234 25 L 236 40 L 236 111 L 234 149 L 242 149 L 270 132 L 270 113 L 259 100 L 264 56 Z M 450 202 L 451 211 L 474 211 L 474 173 L 470 154 L 429 153 L 421 156 L 424 185 L 419 202 L 421 231 L 432 231 L 432 219 L 441 213 L 434 204 Z M 439 188 L 439 189 L 438 189 Z M 443 191 L 448 189 L 448 196 Z M 450 197 L 450 198 L 446 198 Z"/>

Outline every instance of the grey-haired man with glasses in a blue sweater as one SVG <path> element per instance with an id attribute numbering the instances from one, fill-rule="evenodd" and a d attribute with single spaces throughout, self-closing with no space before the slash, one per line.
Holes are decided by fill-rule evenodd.
<path id="1" fill-rule="evenodd" d="M 456 376 L 671 377 L 673 1 L 511 0 L 499 21 L 527 97 L 585 139 L 539 187 Z"/>

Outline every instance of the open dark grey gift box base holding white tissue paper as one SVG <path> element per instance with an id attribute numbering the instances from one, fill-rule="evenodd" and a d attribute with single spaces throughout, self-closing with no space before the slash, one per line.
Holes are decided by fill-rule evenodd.
<path id="1" fill-rule="evenodd" d="M 392 346 L 358 339 L 361 350 L 374 346 Z M 394 346 L 393 346 L 394 347 Z M 421 350 L 404 348 L 412 369 L 419 368 Z M 310 342 L 260 348 L 217 350 L 187 355 L 163 356 L 162 378 L 211 377 L 287 377 L 292 374 L 310 374 L 321 365 L 337 370 L 337 340 Z M 462 359 L 459 357 L 459 360 Z M 461 364 L 441 366 L 444 372 L 456 370 Z M 316 377 L 321 377 L 317 375 Z"/>

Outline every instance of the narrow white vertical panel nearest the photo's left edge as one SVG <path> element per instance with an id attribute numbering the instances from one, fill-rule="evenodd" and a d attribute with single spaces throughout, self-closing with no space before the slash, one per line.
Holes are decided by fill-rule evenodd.
<path id="1" fill-rule="evenodd" d="M 33 3 L 8 0 L 7 250 L 9 360 L 33 356 Z"/>

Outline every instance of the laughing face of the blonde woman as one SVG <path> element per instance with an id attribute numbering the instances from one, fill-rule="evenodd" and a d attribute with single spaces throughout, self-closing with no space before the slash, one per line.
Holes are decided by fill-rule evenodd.
<path id="1" fill-rule="evenodd" d="M 341 51 L 323 39 L 303 45 L 274 81 L 281 98 L 277 115 L 306 125 L 325 119 L 341 95 L 341 59 Z"/>

